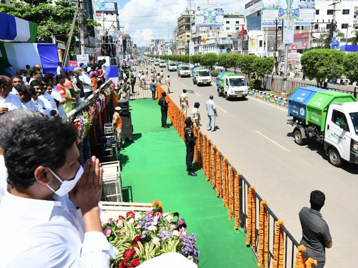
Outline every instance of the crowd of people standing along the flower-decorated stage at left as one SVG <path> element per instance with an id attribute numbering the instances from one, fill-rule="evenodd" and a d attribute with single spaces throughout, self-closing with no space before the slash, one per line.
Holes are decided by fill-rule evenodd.
<path id="1" fill-rule="evenodd" d="M 50 119 L 61 119 L 80 105 L 105 82 L 106 60 L 81 63 L 63 73 L 58 62 L 57 75 L 43 74 L 42 66 L 12 70 L 6 65 L 0 75 L 0 116 L 14 109 L 25 108 Z"/>

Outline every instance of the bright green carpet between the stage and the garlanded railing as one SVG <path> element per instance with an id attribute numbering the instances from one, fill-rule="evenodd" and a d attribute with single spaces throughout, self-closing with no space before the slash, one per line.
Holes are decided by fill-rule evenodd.
<path id="1" fill-rule="evenodd" d="M 202 170 L 197 177 L 185 171 L 185 145 L 176 130 L 160 127 L 160 108 L 151 99 L 130 101 L 134 142 L 122 151 L 122 184 L 125 201 L 148 202 L 157 199 L 163 210 L 179 212 L 189 233 L 197 234 L 199 267 L 257 267 L 245 234 L 234 230 L 234 218 Z M 169 119 L 168 119 L 169 121 Z"/>

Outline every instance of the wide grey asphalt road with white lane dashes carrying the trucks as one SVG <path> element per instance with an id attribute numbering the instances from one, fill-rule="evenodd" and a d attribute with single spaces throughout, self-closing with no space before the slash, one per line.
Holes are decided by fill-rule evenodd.
<path id="1" fill-rule="evenodd" d="M 308 140 L 307 145 L 294 143 L 293 128 L 286 124 L 287 110 L 247 97 L 226 101 L 217 96 L 216 85 L 196 86 L 192 78 L 170 74 L 170 97 L 179 104 L 179 94 L 187 89 L 189 109 L 200 103 L 201 130 L 206 130 L 206 106 L 214 95 L 218 117 L 217 131 L 207 133 L 231 164 L 256 187 L 269 206 L 299 242 L 301 225 L 298 213 L 309 207 L 312 190 L 326 195 L 321 213 L 329 225 L 333 247 L 326 250 L 325 268 L 354 266 L 358 242 L 358 167 L 345 163 L 342 168 L 329 164 L 323 145 Z M 139 68 L 137 69 L 139 70 Z M 163 86 L 166 89 L 166 86 Z"/>

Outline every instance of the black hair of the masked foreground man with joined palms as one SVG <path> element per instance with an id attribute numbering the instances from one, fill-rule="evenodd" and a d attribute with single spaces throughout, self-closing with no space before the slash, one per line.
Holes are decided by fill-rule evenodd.
<path id="1" fill-rule="evenodd" d="M 34 184 L 37 167 L 62 167 L 78 135 L 73 125 L 47 118 L 24 119 L 12 131 L 4 146 L 8 183 L 23 188 Z"/>

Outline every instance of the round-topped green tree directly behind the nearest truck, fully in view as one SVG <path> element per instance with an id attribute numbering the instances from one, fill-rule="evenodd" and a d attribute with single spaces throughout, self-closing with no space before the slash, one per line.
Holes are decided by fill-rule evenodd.
<path id="1" fill-rule="evenodd" d="M 301 65 L 308 79 L 322 86 L 326 78 L 338 78 L 344 73 L 346 54 L 335 49 L 310 49 L 301 56 Z"/>

